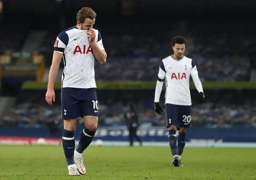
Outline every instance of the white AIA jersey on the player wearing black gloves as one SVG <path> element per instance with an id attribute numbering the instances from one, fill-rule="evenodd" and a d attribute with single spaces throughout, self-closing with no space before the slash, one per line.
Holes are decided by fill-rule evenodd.
<path id="1" fill-rule="evenodd" d="M 198 74 L 194 61 L 186 56 L 176 60 L 168 56 L 162 60 L 158 78 L 164 79 L 166 84 L 165 103 L 190 106 L 190 75 Z"/>

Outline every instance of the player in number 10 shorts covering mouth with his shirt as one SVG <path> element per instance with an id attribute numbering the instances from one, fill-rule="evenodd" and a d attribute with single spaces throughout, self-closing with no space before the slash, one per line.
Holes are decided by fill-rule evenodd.
<path id="1" fill-rule="evenodd" d="M 94 10 L 84 7 L 76 15 L 76 25 L 59 33 L 54 43 L 45 97 L 49 105 L 55 102 L 54 82 L 63 58 L 61 116 L 64 119 L 64 131 L 62 145 L 70 176 L 86 173 L 82 153 L 92 142 L 98 126 L 99 105 L 94 79 L 94 59 L 104 64 L 107 54 L 100 32 L 93 28 L 95 18 Z M 74 131 L 77 117 L 83 117 L 85 127 L 75 150 Z"/>

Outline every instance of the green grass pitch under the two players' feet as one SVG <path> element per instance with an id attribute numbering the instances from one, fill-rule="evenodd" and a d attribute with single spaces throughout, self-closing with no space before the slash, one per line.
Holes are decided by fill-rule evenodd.
<path id="1" fill-rule="evenodd" d="M 90 146 L 83 157 L 86 175 L 71 177 L 62 146 L 1 145 L 0 180 L 256 180 L 254 148 L 185 147 L 184 167 L 169 147 Z"/>

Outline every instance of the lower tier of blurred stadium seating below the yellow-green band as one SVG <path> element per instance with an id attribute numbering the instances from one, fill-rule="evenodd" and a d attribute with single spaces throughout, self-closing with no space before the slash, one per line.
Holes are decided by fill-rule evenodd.
<path id="1" fill-rule="evenodd" d="M 197 93 L 192 91 L 192 125 L 202 127 L 256 126 L 256 99 L 254 90 L 206 90 L 206 103 L 196 101 Z M 20 127 L 45 126 L 62 127 L 60 120 L 60 92 L 56 92 L 54 106 L 44 100 L 45 91 L 23 90 L 15 104 L 3 117 L 2 125 Z M 118 94 L 118 95 L 117 95 Z M 98 90 L 100 99 L 100 127 L 125 125 L 124 114 L 128 94 L 138 106 L 142 126 L 165 126 L 165 115 L 157 115 L 149 98 L 153 90 Z M 237 98 L 234 98 L 237 97 Z M 129 100 L 130 101 L 130 100 Z M 162 100 L 162 103 L 164 101 Z M 164 104 L 162 104 L 164 107 Z M 165 111 L 165 110 L 164 110 Z M 79 121 L 78 126 L 83 126 Z"/>

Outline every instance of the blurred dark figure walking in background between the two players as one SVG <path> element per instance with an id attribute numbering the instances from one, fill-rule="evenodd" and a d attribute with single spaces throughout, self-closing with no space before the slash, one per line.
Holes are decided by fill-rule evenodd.
<path id="1" fill-rule="evenodd" d="M 133 138 L 135 137 L 137 141 L 139 141 L 140 146 L 142 146 L 142 140 L 137 135 L 137 130 L 139 126 L 139 116 L 137 112 L 136 105 L 134 103 L 128 104 L 128 110 L 125 115 L 126 119 L 126 125 L 129 130 L 129 141 L 130 146 L 133 146 Z"/>

